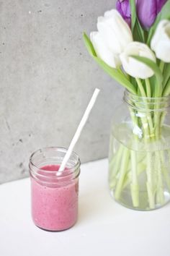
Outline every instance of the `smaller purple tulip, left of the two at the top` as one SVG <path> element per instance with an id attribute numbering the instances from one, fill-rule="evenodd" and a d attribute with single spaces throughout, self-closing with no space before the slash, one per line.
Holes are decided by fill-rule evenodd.
<path id="1" fill-rule="evenodd" d="M 131 24 L 131 13 L 130 13 L 130 4 L 129 0 L 118 0 L 116 2 L 116 9 L 122 15 L 125 22 L 130 26 Z"/>

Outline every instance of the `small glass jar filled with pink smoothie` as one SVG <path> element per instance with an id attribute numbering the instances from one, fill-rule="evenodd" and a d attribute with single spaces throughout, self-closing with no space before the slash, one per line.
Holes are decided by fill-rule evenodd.
<path id="1" fill-rule="evenodd" d="M 43 148 L 30 156 L 32 220 L 48 231 L 69 229 L 77 221 L 80 159 L 72 153 L 57 175 L 66 148 Z"/>

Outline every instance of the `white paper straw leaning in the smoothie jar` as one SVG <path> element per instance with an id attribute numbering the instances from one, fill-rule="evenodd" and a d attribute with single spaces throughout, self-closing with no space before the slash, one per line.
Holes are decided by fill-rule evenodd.
<path id="1" fill-rule="evenodd" d="M 79 137 L 81 135 L 81 131 L 84 128 L 84 125 L 86 124 L 87 119 L 89 118 L 89 114 L 91 112 L 91 109 L 93 108 L 94 103 L 97 100 L 97 96 L 99 94 L 99 91 L 100 90 L 98 88 L 96 88 L 94 90 L 94 93 L 93 93 L 93 95 L 91 97 L 91 100 L 89 101 L 89 105 L 87 106 L 86 111 L 84 112 L 84 116 L 82 117 L 82 119 L 81 119 L 81 121 L 79 123 L 79 127 L 76 129 L 76 133 L 73 136 L 73 139 L 71 140 L 71 144 L 69 145 L 69 148 L 68 148 L 68 150 L 66 152 L 66 155 L 63 158 L 63 162 L 61 163 L 61 166 L 60 166 L 60 168 L 59 168 L 59 170 L 57 172 L 57 175 L 60 175 L 61 172 L 65 169 L 66 163 L 67 163 L 68 159 L 70 158 L 71 153 L 73 152 L 73 148 L 76 145 L 76 142 L 79 140 Z"/>

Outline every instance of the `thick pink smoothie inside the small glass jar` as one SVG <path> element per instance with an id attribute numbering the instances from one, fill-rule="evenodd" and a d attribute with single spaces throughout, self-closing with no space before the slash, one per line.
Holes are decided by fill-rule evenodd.
<path id="1" fill-rule="evenodd" d="M 58 171 L 60 166 L 43 166 L 49 171 L 50 184 L 40 177 L 32 178 L 32 219 L 35 225 L 50 231 L 68 229 L 76 223 L 78 213 L 79 180 L 72 179 L 56 183 L 51 171 Z"/>

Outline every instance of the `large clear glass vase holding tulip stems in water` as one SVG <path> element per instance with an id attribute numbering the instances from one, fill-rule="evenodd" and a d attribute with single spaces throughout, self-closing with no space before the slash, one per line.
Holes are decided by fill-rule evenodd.
<path id="1" fill-rule="evenodd" d="M 125 91 L 114 112 L 109 145 L 109 189 L 136 210 L 170 200 L 170 98 L 143 98 Z"/>

